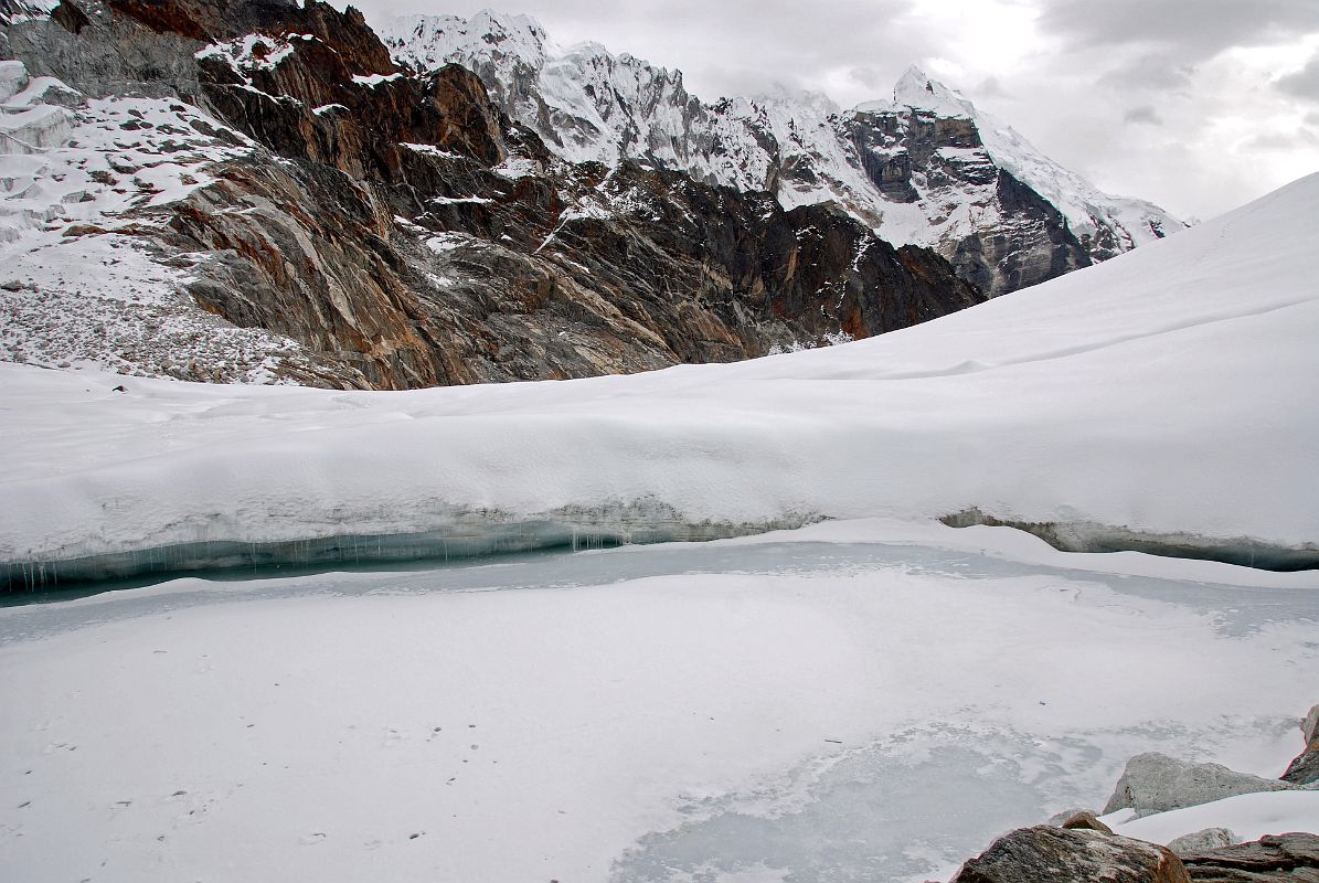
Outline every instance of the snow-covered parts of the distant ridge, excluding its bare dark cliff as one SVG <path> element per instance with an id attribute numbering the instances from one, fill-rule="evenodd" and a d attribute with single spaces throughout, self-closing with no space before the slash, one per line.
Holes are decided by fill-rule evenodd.
<path id="1" fill-rule="evenodd" d="M 892 102 L 847 112 L 823 96 L 786 92 L 707 104 L 686 91 L 681 71 L 613 55 L 599 44 L 562 49 L 526 16 L 408 16 L 377 22 L 376 30 L 404 63 L 427 70 L 454 62 L 475 70 L 514 120 L 568 161 L 613 165 L 632 158 L 743 190 L 772 189 L 785 207 L 838 202 L 897 244 L 951 255 L 966 236 L 1001 224 L 992 210 L 992 177 L 938 181 L 948 165 L 987 158 L 1053 203 L 1078 238 L 1089 238 L 1087 251 L 1096 260 L 1183 226 L 1157 206 L 1100 191 L 915 67 L 898 81 Z M 861 141 L 893 141 L 884 160 L 905 157 L 904 139 L 893 136 L 919 128 L 921 114 L 971 120 L 984 149 L 921 157 L 911 193 L 896 198 L 868 173 L 873 158 L 863 156 Z M 865 135 L 857 137 L 857 128 Z"/>

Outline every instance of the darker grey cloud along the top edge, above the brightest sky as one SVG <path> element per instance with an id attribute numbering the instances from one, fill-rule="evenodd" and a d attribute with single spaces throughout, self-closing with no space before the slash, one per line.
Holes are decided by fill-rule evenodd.
<path id="1" fill-rule="evenodd" d="M 1319 0 L 1055 0 L 1038 25 L 1078 46 L 1155 44 L 1202 59 L 1319 30 Z"/>

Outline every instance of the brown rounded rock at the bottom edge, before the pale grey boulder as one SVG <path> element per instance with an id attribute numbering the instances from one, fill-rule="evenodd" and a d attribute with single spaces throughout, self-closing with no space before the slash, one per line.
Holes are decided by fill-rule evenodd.
<path id="1" fill-rule="evenodd" d="M 1188 883 L 1182 862 L 1155 843 L 1050 825 L 1021 828 L 968 861 L 952 883 Z"/>

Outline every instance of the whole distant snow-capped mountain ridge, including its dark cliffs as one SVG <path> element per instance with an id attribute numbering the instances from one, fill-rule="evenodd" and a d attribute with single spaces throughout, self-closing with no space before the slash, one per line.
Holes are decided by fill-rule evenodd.
<path id="1" fill-rule="evenodd" d="M 557 51 L 525 16 L 409 16 L 381 26 L 418 69 L 476 71 L 558 156 L 630 160 L 793 207 L 835 202 L 880 236 L 929 245 L 1001 294 L 1105 260 L 1183 224 L 1111 197 L 919 70 L 892 102 L 840 111 L 820 95 L 706 104 L 681 71 L 587 44 Z"/>

